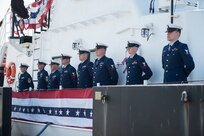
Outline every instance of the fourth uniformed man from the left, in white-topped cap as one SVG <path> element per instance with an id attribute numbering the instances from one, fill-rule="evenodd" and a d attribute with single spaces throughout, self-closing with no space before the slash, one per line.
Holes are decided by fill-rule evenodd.
<path id="1" fill-rule="evenodd" d="M 62 54 L 62 71 L 61 71 L 61 81 L 60 81 L 60 85 L 62 88 L 77 87 L 76 69 L 70 65 L 70 59 L 71 59 L 71 56 Z"/>

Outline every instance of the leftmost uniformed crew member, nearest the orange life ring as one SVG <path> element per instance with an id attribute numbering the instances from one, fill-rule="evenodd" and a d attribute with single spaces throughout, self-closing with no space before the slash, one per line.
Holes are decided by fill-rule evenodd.
<path id="1" fill-rule="evenodd" d="M 20 65 L 21 74 L 19 77 L 19 85 L 18 85 L 19 92 L 24 92 L 24 91 L 29 91 L 31 89 L 34 89 L 33 80 L 30 74 L 27 72 L 28 67 L 29 66 L 24 63 L 21 63 Z"/>

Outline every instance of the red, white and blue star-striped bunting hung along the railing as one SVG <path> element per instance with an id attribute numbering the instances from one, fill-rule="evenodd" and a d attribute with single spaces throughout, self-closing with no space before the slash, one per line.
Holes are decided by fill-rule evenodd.
<path id="1" fill-rule="evenodd" d="M 13 92 L 12 118 L 92 128 L 92 89 Z"/>

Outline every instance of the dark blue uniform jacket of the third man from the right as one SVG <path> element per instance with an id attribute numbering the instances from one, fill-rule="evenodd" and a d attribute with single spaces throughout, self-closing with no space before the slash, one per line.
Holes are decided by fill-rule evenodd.
<path id="1" fill-rule="evenodd" d="M 96 59 L 93 66 L 93 86 L 117 85 L 118 73 L 111 58 L 103 56 L 100 60 Z"/>

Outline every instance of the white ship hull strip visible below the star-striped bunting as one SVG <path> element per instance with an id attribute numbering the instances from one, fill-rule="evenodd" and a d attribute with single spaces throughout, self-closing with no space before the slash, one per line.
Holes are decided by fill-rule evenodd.
<path id="1" fill-rule="evenodd" d="M 22 120 L 12 120 L 12 136 L 36 136 L 46 124 Z M 91 129 L 49 125 L 41 136 L 92 136 Z"/>

